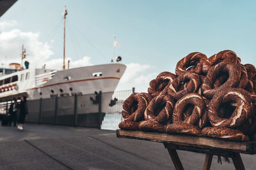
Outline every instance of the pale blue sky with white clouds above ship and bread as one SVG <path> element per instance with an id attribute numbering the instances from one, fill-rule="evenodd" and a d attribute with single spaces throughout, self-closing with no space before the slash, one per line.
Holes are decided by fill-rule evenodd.
<path id="1" fill-rule="evenodd" d="M 18 0 L 0 18 L 0 64 L 19 62 L 24 44 L 31 67 L 61 69 L 65 5 L 70 67 L 110 63 L 116 36 L 127 66 L 116 90 L 147 92 L 191 52 L 233 50 L 256 66 L 256 1 L 236 0 Z"/>

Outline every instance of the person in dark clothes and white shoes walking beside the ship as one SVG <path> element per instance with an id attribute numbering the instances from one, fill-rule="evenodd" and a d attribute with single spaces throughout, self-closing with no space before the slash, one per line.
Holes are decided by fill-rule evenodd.
<path id="1" fill-rule="evenodd" d="M 28 115 L 28 105 L 27 105 L 27 97 L 22 96 L 20 98 L 20 104 L 19 104 L 19 124 L 18 124 L 18 129 L 23 130 L 23 125 L 25 122 L 26 115 Z"/>

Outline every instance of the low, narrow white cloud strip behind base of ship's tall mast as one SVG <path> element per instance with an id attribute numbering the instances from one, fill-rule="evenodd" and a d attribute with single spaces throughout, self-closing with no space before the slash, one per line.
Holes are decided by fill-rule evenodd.
<path id="1" fill-rule="evenodd" d="M 74 60 L 67 58 L 65 59 L 65 66 L 68 67 L 68 60 L 70 60 L 70 68 L 92 66 L 90 57 L 84 56 L 83 59 Z M 63 66 L 63 58 L 52 59 L 45 62 L 45 67 L 48 69 L 61 69 Z"/>

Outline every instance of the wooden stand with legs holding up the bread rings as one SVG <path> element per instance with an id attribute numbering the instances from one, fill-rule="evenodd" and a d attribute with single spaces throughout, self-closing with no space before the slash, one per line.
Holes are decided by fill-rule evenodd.
<path id="1" fill-rule="evenodd" d="M 116 130 L 118 138 L 141 139 L 163 143 L 168 150 L 176 169 L 183 169 L 176 150 L 206 153 L 203 169 L 210 169 L 212 156 L 220 155 L 233 160 L 236 169 L 244 169 L 240 153 L 255 154 L 255 141 L 236 142 L 223 139 L 205 138 L 202 136 L 185 136 L 157 132 Z"/>

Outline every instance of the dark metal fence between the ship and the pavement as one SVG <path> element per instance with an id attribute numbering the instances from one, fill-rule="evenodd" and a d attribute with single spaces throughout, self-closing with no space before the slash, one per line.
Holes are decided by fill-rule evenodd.
<path id="1" fill-rule="evenodd" d="M 26 122 L 118 129 L 122 104 L 132 91 L 134 89 L 28 101 Z M 8 113 L 11 103 L 0 103 L 0 113 Z"/>

